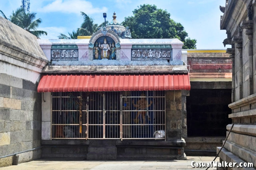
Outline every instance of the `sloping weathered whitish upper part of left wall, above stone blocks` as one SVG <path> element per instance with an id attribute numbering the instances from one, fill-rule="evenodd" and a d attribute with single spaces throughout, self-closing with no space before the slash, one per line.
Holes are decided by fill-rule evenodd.
<path id="1" fill-rule="evenodd" d="M 0 17 L 0 73 L 35 83 L 47 62 L 34 35 Z"/>

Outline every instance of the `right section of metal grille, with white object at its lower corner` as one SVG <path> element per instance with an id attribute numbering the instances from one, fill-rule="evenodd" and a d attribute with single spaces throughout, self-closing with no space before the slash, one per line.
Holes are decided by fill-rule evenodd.
<path id="1" fill-rule="evenodd" d="M 165 138 L 165 91 L 122 94 L 122 139 Z"/>

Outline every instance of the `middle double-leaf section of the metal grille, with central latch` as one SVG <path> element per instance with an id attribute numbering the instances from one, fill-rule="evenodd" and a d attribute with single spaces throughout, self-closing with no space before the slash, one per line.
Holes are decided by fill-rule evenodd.
<path id="1" fill-rule="evenodd" d="M 88 139 L 120 138 L 120 92 L 91 92 Z"/>

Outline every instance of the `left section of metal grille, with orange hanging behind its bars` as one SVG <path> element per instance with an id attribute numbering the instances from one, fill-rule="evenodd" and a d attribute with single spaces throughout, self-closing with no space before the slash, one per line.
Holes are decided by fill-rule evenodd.
<path id="1" fill-rule="evenodd" d="M 52 93 L 52 139 L 87 138 L 87 98 L 82 92 Z"/>

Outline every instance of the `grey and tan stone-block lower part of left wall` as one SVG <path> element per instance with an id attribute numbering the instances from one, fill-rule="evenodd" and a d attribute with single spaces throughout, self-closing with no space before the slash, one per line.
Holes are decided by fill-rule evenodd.
<path id="1" fill-rule="evenodd" d="M 41 95 L 37 84 L 0 74 L 0 156 L 41 146 Z M 41 150 L 18 154 L 19 163 L 41 157 Z M 12 156 L 0 159 L 11 165 Z"/>

